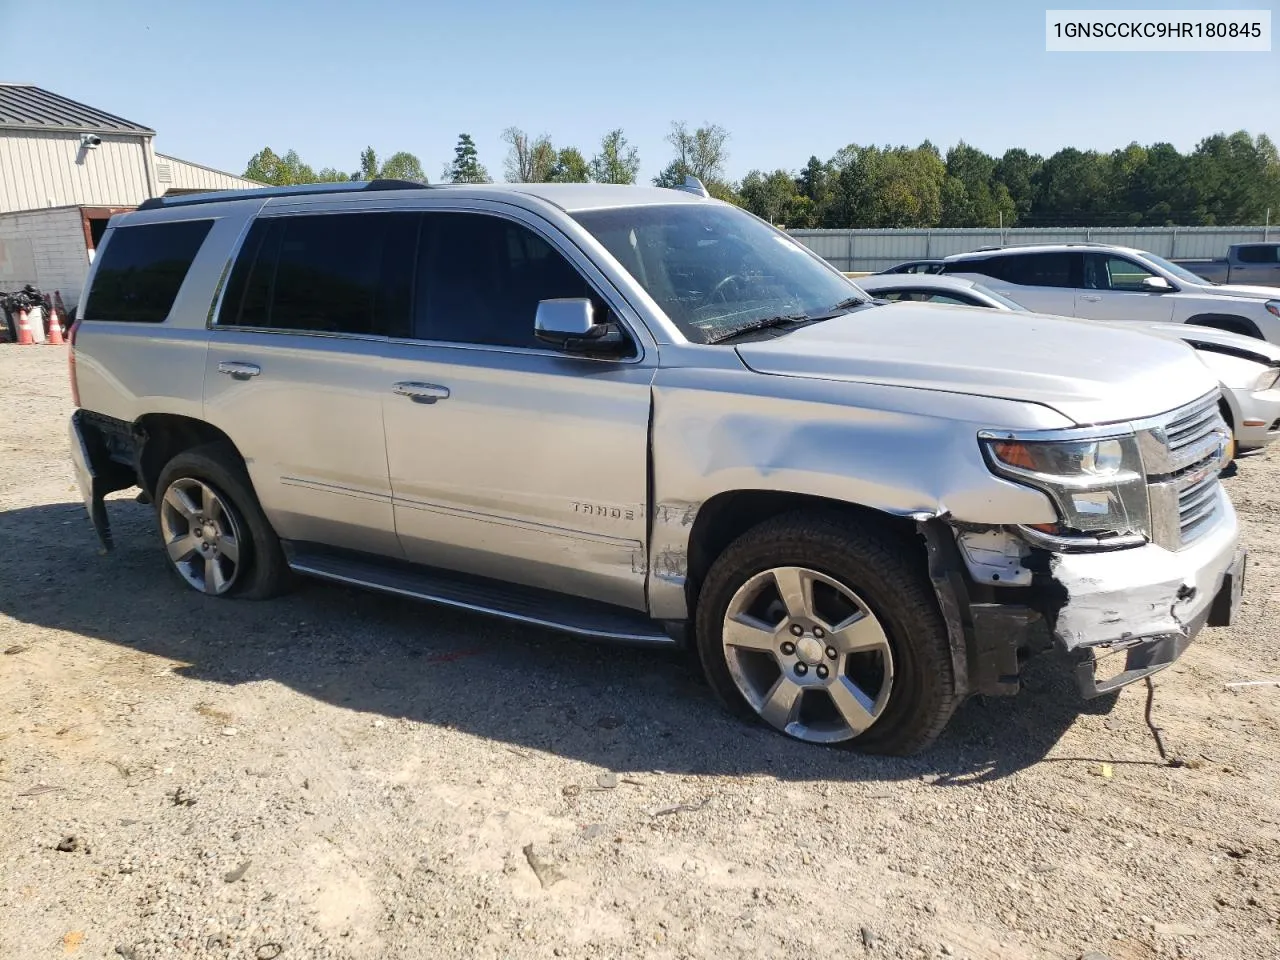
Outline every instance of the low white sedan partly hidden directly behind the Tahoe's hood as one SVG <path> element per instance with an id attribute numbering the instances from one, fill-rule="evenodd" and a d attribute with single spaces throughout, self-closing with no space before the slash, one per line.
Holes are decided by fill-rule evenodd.
<path id="1" fill-rule="evenodd" d="M 933 274 L 877 274 L 858 285 L 877 300 L 1016 310 L 1027 307 L 977 280 Z M 1222 419 L 1235 452 L 1254 451 L 1280 438 L 1280 347 L 1212 326 L 1111 321 L 1196 348 L 1222 385 Z"/>

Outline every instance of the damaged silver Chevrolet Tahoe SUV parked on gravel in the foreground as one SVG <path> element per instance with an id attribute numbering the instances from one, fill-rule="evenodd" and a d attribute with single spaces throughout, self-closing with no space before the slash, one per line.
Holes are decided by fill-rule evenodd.
<path id="1" fill-rule="evenodd" d="M 72 449 L 207 596 L 302 573 L 632 644 L 809 742 L 925 746 L 1053 646 L 1087 695 L 1230 622 L 1217 384 L 1096 324 L 886 308 L 695 192 L 148 201 L 74 332 Z M 1100 662 L 1117 664 L 1103 673 Z"/>

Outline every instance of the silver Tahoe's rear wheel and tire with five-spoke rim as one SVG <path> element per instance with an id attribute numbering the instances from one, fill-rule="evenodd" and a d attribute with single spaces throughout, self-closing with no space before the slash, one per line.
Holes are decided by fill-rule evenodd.
<path id="1" fill-rule="evenodd" d="M 292 582 L 239 454 L 210 443 L 170 460 L 156 483 L 156 526 L 169 568 L 209 596 L 264 600 Z"/>

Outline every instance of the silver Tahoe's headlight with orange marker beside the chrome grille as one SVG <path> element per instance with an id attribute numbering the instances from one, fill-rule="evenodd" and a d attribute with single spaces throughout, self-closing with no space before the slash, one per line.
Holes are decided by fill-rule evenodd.
<path id="1" fill-rule="evenodd" d="M 1133 434 L 1084 440 L 1024 440 L 987 435 L 991 468 L 1043 490 L 1057 507 L 1059 524 L 1032 530 L 1082 545 L 1151 536 L 1147 480 Z"/>

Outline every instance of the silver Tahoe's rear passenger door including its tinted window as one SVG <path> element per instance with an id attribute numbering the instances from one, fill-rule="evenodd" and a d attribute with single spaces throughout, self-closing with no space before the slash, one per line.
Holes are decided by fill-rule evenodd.
<path id="1" fill-rule="evenodd" d="M 209 342 L 205 419 L 285 540 L 399 556 L 381 404 L 408 332 L 413 212 L 284 212 L 248 229 Z"/>

